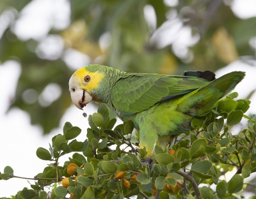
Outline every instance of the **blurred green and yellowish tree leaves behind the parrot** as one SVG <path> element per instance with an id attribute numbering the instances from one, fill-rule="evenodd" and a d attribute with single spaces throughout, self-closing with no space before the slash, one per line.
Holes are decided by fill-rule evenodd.
<path id="1" fill-rule="evenodd" d="M 252 28 L 255 27 L 255 17 L 237 18 L 222 0 L 179 1 L 173 6 L 152 0 L 69 1 L 70 25 L 67 28 L 52 27 L 40 40 L 21 40 L 13 31 L 13 26 L 31 2 L 0 2 L 0 15 L 8 11 L 7 27 L 0 36 L 0 62 L 14 60 L 20 63 L 22 73 L 12 107 L 28 112 L 31 123 L 40 124 L 44 133 L 58 126 L 65 110 L 71 105 L 68 79 L 74 68 L 81 66 L 76 66 L 72 59 L 67 62 L 65 56 L 71 53 L 70 50 L 86 56 L 88 64 L 105 64 L 129 72 L 170 75 L 181 75 L 185 70 L 215 71 L 241 56 L 246 60 L 255 55 L 255 49 L 249 43 L 256 35 Z M 154 10 L 154 26 L 148 24 L 145 18 L 145 6 Z M 166 34 L 175 24 L 180 24 L 177 31 Z M 197 41 L 186 45 L 179 43 L 179 35 L 184 29 L 189 29 L 190 36 L 197 38 Z M 58 55 L 52 52 L 47 57 L 45 52 L 40 51 L 42 42 L 49 38 L 62 42 Z M 174 39 L 169 41 L 170 38 Z M 159 43 L 165 39 L 161 47 Z M 74 64 L 73 68 L 70 63 Z M 55 101 L 44 103 L 42 92 L 51 83 L 60 87 L 61 94 Z M 25 99 L 26 94 L 31 96 L 31 91 L 35 99 L 29 102 Z"/>

